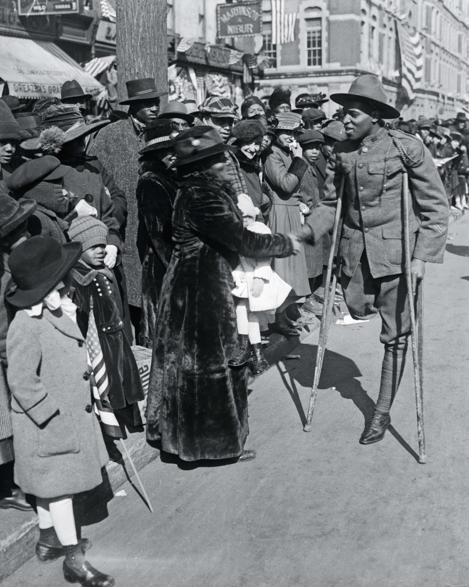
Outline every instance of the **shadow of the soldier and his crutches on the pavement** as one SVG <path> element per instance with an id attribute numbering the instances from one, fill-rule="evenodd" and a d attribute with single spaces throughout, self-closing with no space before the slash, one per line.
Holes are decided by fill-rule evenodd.
<path id="1" fill-rule="evenodd" d="M 302 387 L 312 387 L 317 346 L 302 345 L 298 350 L 301 355 L 301 363 L 303 364 L 296 361 L 285 361 L 283 363 L 286 369 L 285 371 L 281 369 L 280 365 L 277 365 L 277 368 L 280 372 L 283 383 L 295 404 L 301 419 L 301 424 L 304 426 L 306 423 L 306 415 L 303 405 L 301 404 L 300 396 L 297 392 L 295 380 L 300 383 Z M 363 426 L 365 426 L 365 424 L 368 424 L 371 420 L 373 410 L 375 409 L 375 402 L 373 402 L 366 390 L 363 389 L 361 382 L 355 379 L 355 377 L 361 377 L 361 375 L 362 373 L 352 359 L 326 349 L 324 362 L 322 363 L 319 389 L 331 389 L 331 387 L 335 387 L 335 389 L 341 394 L 341 397 L 346 400 L 352 400 L 355 406 L 358 407 L 363 414 Z M 397 442 L 418 462 L 419 455 L 409 446 L 409 444 L 407 444 L 397 430 L 392 425 L 389 426 L 388 430 Z"/>

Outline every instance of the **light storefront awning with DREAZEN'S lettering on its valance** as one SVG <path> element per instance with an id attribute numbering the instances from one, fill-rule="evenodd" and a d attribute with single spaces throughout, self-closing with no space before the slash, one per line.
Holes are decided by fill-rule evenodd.
<path id="1" fill-rule="evenodd" d="M 25 99 L 60 97 L 63 83 L 71 79 L 77 80 L 84 93 L 96 95 L 103 90 L 103 86 L 72 58 L 67 56 L 65 60 L 44 45 L 32 39 L 0 36 L 0 77 L 1 81 L 8 82 L 12 96 Z"/>

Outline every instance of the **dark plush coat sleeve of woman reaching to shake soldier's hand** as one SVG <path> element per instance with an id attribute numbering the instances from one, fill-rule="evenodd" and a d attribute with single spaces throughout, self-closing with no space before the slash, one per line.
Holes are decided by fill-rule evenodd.
<path id="1" fill-rule="evenodd" d="M 243 257 L 288 257 L 293 244 L 287 235 L 256 234 L 243 227 L 229 203 L 215 194 L 195 190 L 187 221 L 191 228 Z"/>

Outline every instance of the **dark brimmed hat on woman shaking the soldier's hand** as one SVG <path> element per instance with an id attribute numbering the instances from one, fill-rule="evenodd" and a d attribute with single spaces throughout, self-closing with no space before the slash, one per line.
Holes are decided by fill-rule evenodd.
<path id="1" fill-rule="evenodd" d="M 231 150 L 229 145 L 222 142 L 216 129 L 204 125 L 183 130 L 173 145 L 177 158 L 169 168 L 180 167 Z"/>

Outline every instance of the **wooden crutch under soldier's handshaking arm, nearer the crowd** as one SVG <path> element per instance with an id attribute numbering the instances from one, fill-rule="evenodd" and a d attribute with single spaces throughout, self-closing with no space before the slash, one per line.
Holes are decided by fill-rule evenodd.
<path id="1" fill-rule="evenodd" d="M 318 350 L 316 353 L 316 366 L 314 367 L 314 379 L 311 388 L 310 406 L 308 407 L 308 416 L 306 423 L 303 426 L 305 432 L 311 432 L 312 413 L 314 411 L 314 404 L 316 403 L 316 396 L 318 394 L 318 385 L 321 377 L 322 361 L 324 360 L 324 353 L 326 350 L 327 335 L 329 326 L 331 325 L 332 308 L 334 307 L 335 286 L 337 285 L 337 276 L 339 274 L 339 263 L 337 264 L 334 276 L 332 277 L 332 264 L 334 262 L 335 243 L 337 242 L 337 233 L 342 215 L 342 197 L 344 195 L 345 177 L 342 176 L 341 187 L 339 189 L 339 197 L 337 200 L 337 207 L 335 208 L 334 228 L 332 229 L 331 250 L 329 251 L 329 262 L 327 264 L 326 283 L 324 288 L 324 303 L 322 304 L 321 326 L 319 332 Z"/>

